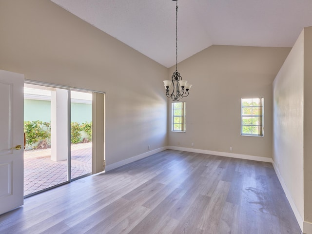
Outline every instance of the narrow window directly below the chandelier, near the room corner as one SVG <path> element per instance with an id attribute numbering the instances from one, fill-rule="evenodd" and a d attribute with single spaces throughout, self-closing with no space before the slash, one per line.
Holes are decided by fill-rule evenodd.
<path id="1" fill-rule="evenodd" d="M 185 132 L 185 102 L 172 103 L 172 131 Z"/>

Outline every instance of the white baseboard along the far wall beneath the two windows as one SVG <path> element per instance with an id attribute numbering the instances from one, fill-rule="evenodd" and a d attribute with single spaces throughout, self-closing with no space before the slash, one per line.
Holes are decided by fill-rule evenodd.
<path id="1" fill-rule="evenodd" d="M 184 147 L 177 147 L 177 146 L 168 146 L 170 150 L 180 150 L 180 151 L 187 151 L 193 153 L 200 153 L 206 155 L 216 155 L 216 156 L 225 156 L 225 157 L 234 157 L 234 158 L 241 158 L 241 159 L 248 159 L 260 162 L 271 162 L 273 160 L 271 157 L 261 157 L 261 156 L 252 156 L 252 155 L 241 155 L 241 154 L 234 154 L 234 153 L 227 153 L 227 152 L 219 152 L 219 151 L 211 151 L 211 150 L 200 150 L 194 148 L 184 148 Z"/>

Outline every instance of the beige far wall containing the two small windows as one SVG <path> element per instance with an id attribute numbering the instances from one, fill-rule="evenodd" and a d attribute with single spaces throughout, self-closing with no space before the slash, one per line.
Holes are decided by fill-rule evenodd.
<path id="1" fill-rule="evenodd" d="M 272 82 L 290 48 L 211 46 L 178 64 L 193 84 L 186 101 L 186 132 L 171 132 L 171 146 L 272 156 Z M 169 69 L 171 77 L 175 67 Z M 264 137 L 240 136 L 240 98 L 265 98 Z M 168 105 L 171 109 L 171 103 Z M 230 152 L 230 147 L 233 151 Z"/>

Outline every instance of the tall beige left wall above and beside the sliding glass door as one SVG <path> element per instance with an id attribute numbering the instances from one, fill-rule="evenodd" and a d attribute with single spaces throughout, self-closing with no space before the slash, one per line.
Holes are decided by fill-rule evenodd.
<path id="1" fill-rule="evenodd" d="M 49 0 L 0 0 L 0 69 L 105 92 L 107 164 L 167 145 L 167 68 Z"/>

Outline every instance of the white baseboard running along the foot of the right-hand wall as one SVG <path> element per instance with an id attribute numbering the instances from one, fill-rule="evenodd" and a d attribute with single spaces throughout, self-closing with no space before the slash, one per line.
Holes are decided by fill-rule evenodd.
<path id="1" fill-rule="evenodd" d="M 276 175 L 277 175 L 277 178 L 278 178 L 279 182 L 281 183 L 282 188 L 283 188 L 283 190 L 284 190 L 284 193 L 285 193 L 285 195 L 286 195 L 286 197 L 287 197 L 287 199 L 288 199 L 288 202 L 289 202 L 289 204 L 290 204 L 291 207 L 292 207 L 293 214 L 294 214 L 294 216 L 295 216 L 296 219 L 297 219 L 297 222 L 298 222 L 298 224 L 299 224 L 299 226 L 300 226 L 300 228 L 301 228 L 301 231 L 303 231 L 303 233 L 305 233 L 305 234 L 312 234 L 312 226 L 311 226 L 312 224 L 310 223 L 310 226 L 309 226 L 308 224 L 306 224 L 306 225 L 307 225 L 307 227 L 306 227 L 307 230 L 304 229 L 305 225 L 304 225 L 304 222 L 303 222 L 303 218 L 301 217 L 301 215 L 300 215 L 300 213 L 299 213 L 299 211 L 298 211 L 298 209 L 297 209 L 296 204 L 295 204 L 294 201 L 292 200 L 292 195 L 291 195 L 291 193 L 289 192 L 289 190 L 288 190 L 288 188 L 287 188 L 287 186 L 286 186 L 286 184 L 285 184 L 285 182 L 284 182 L 284 180 L 283 180 L 283 177 L 282 177 L 281 174 L 279 173 L 279 170 L 278 170 L 278 168 L 276 167 L 276 164 L 274 163 L 274 161 L 273 161 L 272 164 L 273 164 L 275 173 L 276 173 Z M 310 227 L 310 231 L 309 231 L 309 232 L 308 232 L 308 226 Z"/>

